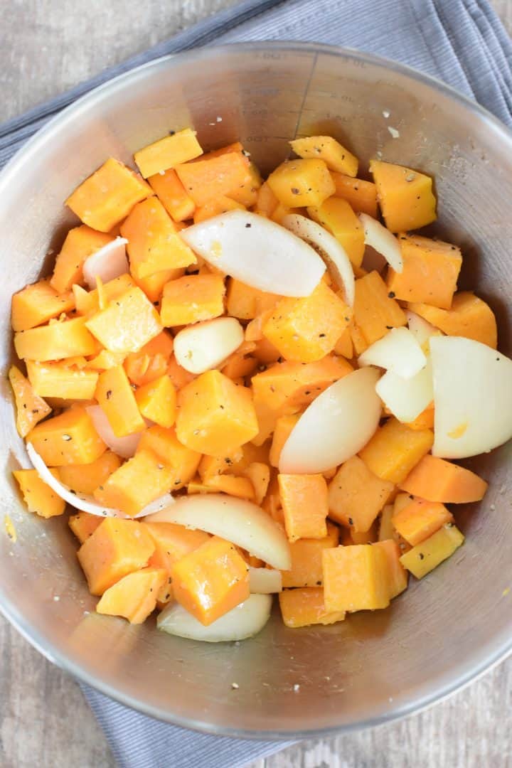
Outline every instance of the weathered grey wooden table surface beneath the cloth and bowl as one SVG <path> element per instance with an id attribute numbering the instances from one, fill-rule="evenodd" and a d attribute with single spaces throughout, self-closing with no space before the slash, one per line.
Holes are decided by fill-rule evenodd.
<path id="1" fill-rule="evenodd" d="M 0 0 L 0 122 L 231 4 Z M 512 0 L 493 5 L 511 31 Z M 424 713 L 305 742 L 251 768 L 505 768 L 511 711 L 512 659 Z M 0 617 L 0 768 L 115 764 L 78 685 Z"/>

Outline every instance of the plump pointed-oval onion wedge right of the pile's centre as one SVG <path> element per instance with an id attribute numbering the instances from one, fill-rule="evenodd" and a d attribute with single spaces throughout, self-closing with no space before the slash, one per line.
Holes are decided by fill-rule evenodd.
<path id="1" fill-rule="evenodd" d="M 327 472 L 360 451 L 378 427 L 381 401 L 375 368 L 349 373 L 322 392 L 296 423 L 282 448 L 279 472 Z"/>

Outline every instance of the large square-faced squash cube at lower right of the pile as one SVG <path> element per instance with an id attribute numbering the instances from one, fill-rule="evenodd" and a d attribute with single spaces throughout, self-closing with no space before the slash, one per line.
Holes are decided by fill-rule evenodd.
<path id="1" fill-rule="evenodd" d="M 372 544 L 322 551 L 327 611 L 375 611 L 389 605 L 388 558 Z"/>

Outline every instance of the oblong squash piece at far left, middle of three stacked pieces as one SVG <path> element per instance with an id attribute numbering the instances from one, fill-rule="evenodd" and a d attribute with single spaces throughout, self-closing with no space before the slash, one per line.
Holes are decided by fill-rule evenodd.
<path id="1" fill-rule="evenodd" d="M 21 359 L 39 362 L 94 355 L 99 351 L 97 341 L 85 322 L 84 317 L 51 320 L 48 326 L 18 331 L 15 333 L 16 354 Z"/>

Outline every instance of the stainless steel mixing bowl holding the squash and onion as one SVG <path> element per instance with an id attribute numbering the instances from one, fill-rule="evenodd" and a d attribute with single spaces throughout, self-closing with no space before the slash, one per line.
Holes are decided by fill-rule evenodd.
<path id="1" fill-rule="evenodd" d="M 389 113 L 386 118 L 385 114 Z M 12 293 L 45 269 L 74 218 L 62 201 L 110 154 L 191 125 L 201 144 L 240 139 L 268 170 L 300 134 L 332 134 L 362 158 L 425 170 L 440 200 L 437 231 L 464 253 L 463 286 L 491 300 L 510 348 L 512 137 L 443 84 L 370 55 L 319 45 L 253 43 L 146 65 L 51 121 L 0 178 L 2 371 Z M 399 132 L 391 137 L 389 127 Z M 28 466 L 2 376 L 0 608 L 49 659 L 171 723 L 246 737 L 296 737 L 382 723 L 439 700 L 512 647 L 510 447 L 474 462 L 485 502 L 458 515 L 464 547 L 386 611 L 286 629 L 274 617 L 251 641 L 199 644 L 101 617 L 65 519 L 22 508 L 10 472 Z M 485 396 L 485 395 L 484 395 Z M 3 514 L 18 532 L 3 532 Z M 55 598 L 60 598 L 56 600 Z M 238 688 L 233 690 L 235 682 Z M 294 685 L 299 690 L 294 691 Z"/>

